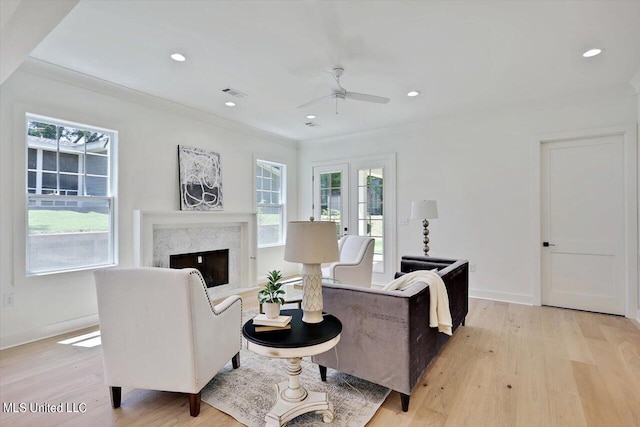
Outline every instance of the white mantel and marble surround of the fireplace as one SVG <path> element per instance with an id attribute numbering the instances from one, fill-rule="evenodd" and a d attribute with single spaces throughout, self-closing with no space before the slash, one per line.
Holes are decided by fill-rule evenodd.
<path id="1" fill-rule="evenodd" d="M 194 241 L 198 236 L 216 235 L 218 232 L 226 238 L 239 238 L 239 242 L 226 244 L 218 247 L 215 243 L 208 246 L 207 241 Z M 183 237 L 187 241 L 178 244 L 173 253 L 199 252 L 201 250 L 214 249 L 239 249 L 235 261 L 232 250 L 229 251 L 229 284 L 209 288 L 212 296 L 223 296 L 243 291 L 256 286 L 256 254 L 257 254 L 257 231 L 256 214 L 253 213 L 226 213 L 226 212 L 202 212 L 202 211 L 143 211 L 136 210 L 133 213 L 134 230 L 134 266 L 154 267 L 158 264 L 164 266 L 164 262 L 159 261 L 159 257 L 166 254 L 154 254 L 155 251 L 162 251 L 166 248 L 166 238 L 168 236 Z M 239 231 L 238 231 L 239 229 Z M 195 236 L 195 237 L 194 237 Z M 163 239 L 154 242 L 155 239 Z M 210 237 L 209 237 L 210 239 Z M 228 242 L 227 242 L 228 243 Z M 230 248 L 231 247 L 231 248 Z M 192 250 L 197 248 L 197 250 Z M 238 268 L 232 272 L 231 268 Z M 238 274 L 239 273 L 239 274 Z"/>

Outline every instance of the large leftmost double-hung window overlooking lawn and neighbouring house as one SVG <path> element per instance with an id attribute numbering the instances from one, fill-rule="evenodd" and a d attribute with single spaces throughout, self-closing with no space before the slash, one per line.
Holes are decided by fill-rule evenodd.
<path id="1" fill-rule="evenodd" d="M 116 132 L 27 115 L 27 274 L 113 265 Z"/>

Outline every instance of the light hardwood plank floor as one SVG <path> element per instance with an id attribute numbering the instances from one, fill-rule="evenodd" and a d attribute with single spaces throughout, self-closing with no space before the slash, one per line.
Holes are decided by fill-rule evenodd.
<path id="1" fill-rule="evenodd" d="M 255 296 L 244 305 L 257 306 Z M 392 392 L 369 426 L 640 426 L 633 321 L 475 299 L 469 310 L 467 326 L 413 392 L 409 412 Z M 204 402 L 192 418 L 178 393 L 123 388 L 122 407 L 112 409 L 100 347 L 57 344 L 77 335 L 0 352 L 0 401 L 86 403 L 86 412 L 2 412 L 1 425 L 241 425 Z"/>

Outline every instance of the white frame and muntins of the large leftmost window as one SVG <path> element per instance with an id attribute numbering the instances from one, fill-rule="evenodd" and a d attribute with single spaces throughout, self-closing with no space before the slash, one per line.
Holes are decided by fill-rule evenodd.
<path id="1" fill-rule="evenodd" d="M 44 154 L 40 155 L 38 154 L 38 151 L 36 151 L 36 168 L 32 169 L 29 168 L 29 149 L 32 149 L 34 147 L 30 147 L 29 146 L 29 122 L 32 121 L 36 121 L 36 122 L 43 122 L 43 123 L 47 123 L 47 124 L 51 124 L 54 126 L 63 126 L 63 127 L 71 127 L 71 128 L 76 128 L 76 129 L 81 129 L 81 130 L 87 130 L 87 131 L 94 131 L 94 132 L 99 132 L 99 133 L 103 133 L 103 134 L 107 134 L 109 136 L 109 143 L 110 143 L 110 147 L 109 147 L 109 154 L 106 155 L 105 157 L 107 157 L 108 159 L 108 163 L 107 163 L 107 188 L 106 188 L 106 195 L 104 196 L 88 196 L 85 195 L 84 193 L 86 193 L 86 180 L 85 178 L 87 176 L 94 176 L 95 174 L 88 174 L 86 173 L 86 169 L 85 168 L 85 164 L 86 164 L 86 153 L 80 153 L 79 154 L 79 158 L 78 158 L 78 172 L 74 173 L 74 172 L 64 172 L 60 170 L 60 163 L 58 162 L 57 164 L 57 169 L 56 171 L 50 171 L 47 172 L 44 168 L 43 168 L 43 161 L 42 158 L 44 157 Z M 115 267 L 118 265 L 118 203 L 117 203 L 117 189 L 118 189 L 118 179 L 117 179 L 117 158 L 118 158 L 118 131 L 113 130 L 113 129 L 109 129 L 109 128 L 102 128 L 102 127 L 98 127 L 98 126 L 92 126 L 92 125 L 86 125 L 83 123 L 78 123 L 78 122 L 73 122 L 73 121 L 69 121 L 69 120 L 64 120 L 64 119 L 57 119 L 57 118 L 53 118 L 53 117 L 49 117 L 49 116 L 44 116 L 44 115 L 40 115 L 40 114 L 34 114 L 34 113 L 29 113 L 26 112 L 25 113 L 25 117 L 24 117 L 24 153 L 25 153 L 25 159 L 24 159 L 24 173 L 25 173 L 25 182 L 24 182 L 24 206 L 25 206 L 25 226 L 24 226 L 24 242 L 25 242 L 25 264 L 24 264 L 24 271 L 25 271 L 25 275 L 26 277 L 34 277 L 34 276 L 47 276 L 47 275 L 52 275 L 52 274 L 60 274 L 60 273 L 70 273 L 70 272 L 76 272 L 76 271 L 87 271 L 87 270 L 96 270 L 96 269 L 101 269 L 101 268 L 105 268 L 105 267 Z M 38 148 L 34 148 L 36 150 L 38 150 Z M 41 150 L 43 153 L 44 151 L 46 151 L 45 149 Z M 48 150 L 48 151 L 52 151 L 52 150 Z M 60 153 L 66 153 L 66 152 L 70 152 L 67 150 L 60 150 L 60 148 L 58 147 L 56 151 L 54 152 L 60 152 Z M 38 158 L 40 158 L 40 161 L 38 161 Z M 77 176 L 79 178 L 79 183 L 82 184 L 82 191 L 80 191 L 78 189 L 78 194 L 77 195 L 59 195 L 59 194 L 36 194 L 36 193 L 29 193 L 29 173 L 30 172 L 36 172 L 36 188 L 37 188 L 37 174 L 38 174 L 38 166 L 40 166 L 40 174 L 42 173 L 56 173 L 56 174 L 60 174 L 60 175 L 74 175 Z M 80 168 L 84 169 L 84 172 L 80 171 Z M 59 184 L 58 184 L 59 186 Z M 65 190 L 65 191 L 69 191 L 69 190 Z M 29 202 L 31 200 L 47 200 L 47 201 L 51 201 L 52 204 L 55 206 L 56 202 L 60 203 L 60 202 L 78 202 L 78 201 L 107 201 L 108 205 L 109 205 L 109 219 L 108 219 L 108 261 L 105 263 L 101 263 L 101 264 L 92 264 L 92 265 L 83 265 L 83 266 L 76 266 L 76 267 L 68 267 L 68 268 L 59 268 L 59 269 L 51 269 L 51 270 L 46 270 L 46 271 L 30 271 L 29 267 L 30 267 L 30 250 L 29 250 Z"/>

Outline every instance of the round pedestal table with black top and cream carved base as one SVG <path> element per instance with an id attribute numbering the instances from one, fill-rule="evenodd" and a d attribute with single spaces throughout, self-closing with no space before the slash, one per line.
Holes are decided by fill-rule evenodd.
<path id="1" fill-rule="evenodd" d="M 289 379 L 275 385 L 276 403 L 265 416 L 266 426 L 282 426 L 305 414 L 322 414 L 325 423 L 333 421 L 333 405 L 326 393 L 307 391 L 300 384 L 303 357 L 324 353 L 340 341 L 342 323 L 335 316 L 324 314 L 320 323 L 304 323 L 302 310 L 282 310 L 281 315 L 292 316 L 291 329 L 256 332 L 253 319 L 242 327 L 247 348 L 256 354 L 287 359 Z"/>

